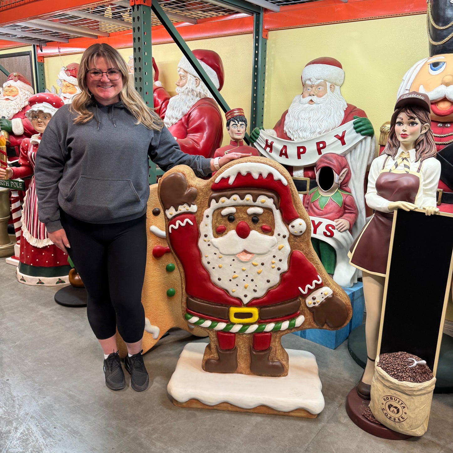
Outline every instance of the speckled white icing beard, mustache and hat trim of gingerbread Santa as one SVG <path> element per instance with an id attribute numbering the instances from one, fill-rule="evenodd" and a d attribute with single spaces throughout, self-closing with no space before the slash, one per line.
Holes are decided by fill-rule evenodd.
<path id="1" fill-rule="evenodd" d="M 280 211 L 275 208 L 273 200 L 265 195 L 260 195 L 255 203 L 251 195 L 246 195 L 245 198 L 250 198 L 250 201 L 241 200 L 237 195 L 231 196 L 230 199 L 221 198 L 219 203 L 211 201 L 211 207 L 203 213 L 203 220 L 199 226 L 198 248 L 202 264 L 208 271 L 212 283 L 225 289 L 231 296 L 241 299 L 243 304 L 248 304 L 252 299 L 264 296 L 271 287 L 280 282 L 281 274 L 288 270 L 291 250 L 288 228 L 283 223 Z M 265 202 L 261 202 L 263 199 Z M 225 201 L 222 203 L 222 200 Z M 252 230 L 246 239 L 241 239 L 233 230 L 223 237 L 214 238 L 212 213 L 215 209 L 239 205 L 259 205 L 272 209 L 275 221 L 274 236 Z M 214 226 L 216 227 L 217 225 Z M 254 254 L 248 261 L 241 261 L 236 256 L 244 250 Z"/>

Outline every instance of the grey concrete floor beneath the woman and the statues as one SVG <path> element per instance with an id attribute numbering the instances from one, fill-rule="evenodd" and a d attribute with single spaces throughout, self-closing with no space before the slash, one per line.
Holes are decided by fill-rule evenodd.
<path id="1" fill-rule="evenodd" d="M 434 395 L 428 432 L 378 439 L 348 418 L 345 398 L 361 376 L 347 342 L 331 350 L 296 335 L 287 348 L 317 357 L 325 408 L 317 419 L 174 406 L 167 383 L 187 342 L 174 330 L 145 355 L 148 390 L 107 389 L 102 351 L 85 308 L 53 301 L 54 288 L 19 284 L 0 260 L 0 452 L 453 452 L 453 395 Z M 301 386 L 303 382 L 301 382 Z"/>

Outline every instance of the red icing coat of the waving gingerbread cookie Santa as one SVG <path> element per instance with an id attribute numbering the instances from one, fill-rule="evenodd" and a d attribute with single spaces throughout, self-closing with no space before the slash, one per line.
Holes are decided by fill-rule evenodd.
<path id="1" fill-rule="evenodd" d="M 172 225 L 177 226 L 177 222 L 181 222 L 183 226 L 179 223 L 178 228 L 170 228 Z M 232 297 L 224 289 L 213 284 L 209 273 L 202 265 L 201 253 L 197 245 L 199 230 L 195 215 L 187 213 L 174 217 L 169 222 L 169 231 L 171 231 L 170 244 L 183 265 L 186 293 L 213 304 L 244 307 L 241 299 Z M 309 286 L 308 293 L 310 293 L 321 288 L 323 283 L 313 264 L 302 252 L 296 250 L 289 256 L 288 270 L 281 275 L 280 284 L 270 289 L 263 297 L 252 299 L 246 306 L 262 307 L 295 299 L 301 296 L 299 286 L 303 289 Z M 210 317 L 210 319 L 214 318 Z M 270 322 L 270 320 L 263 322 Z"/>

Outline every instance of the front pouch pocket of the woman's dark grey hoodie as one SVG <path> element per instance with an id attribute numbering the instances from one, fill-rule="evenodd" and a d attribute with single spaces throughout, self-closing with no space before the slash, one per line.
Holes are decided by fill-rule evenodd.
<path id="1" fill-rule="evenodd" d="M 81 176 L 63 211 L 86 222 L 102 222 L 139 214 L 143 203 L 130 179 Z"/>

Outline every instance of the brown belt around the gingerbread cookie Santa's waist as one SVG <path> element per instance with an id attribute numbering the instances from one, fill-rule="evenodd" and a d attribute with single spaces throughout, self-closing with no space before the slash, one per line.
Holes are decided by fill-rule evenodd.
<path id="1" fill-rule="evenodd" d="M 229 305 L 212 304 L 193 297 L 187 297 L 186 306 L 188 310 L 196 313 L 211 316 L 212 318 L 219 318 L 228 321 L 230 319 L 230 308 Z M 292 299 L 280 304 L 266 305 L 265 307 L 250 307 L 251 313 L 259 311 L 259 319 L 273 319 L 289 316 L 297 313 L 300 309 L 300 300 Z M 243 318 L 244 322 L 251 316 L 246 316 L 246 307 L 241 308 L 243 312 L 241 314 L 236 313 L 236 318 Z"/>

